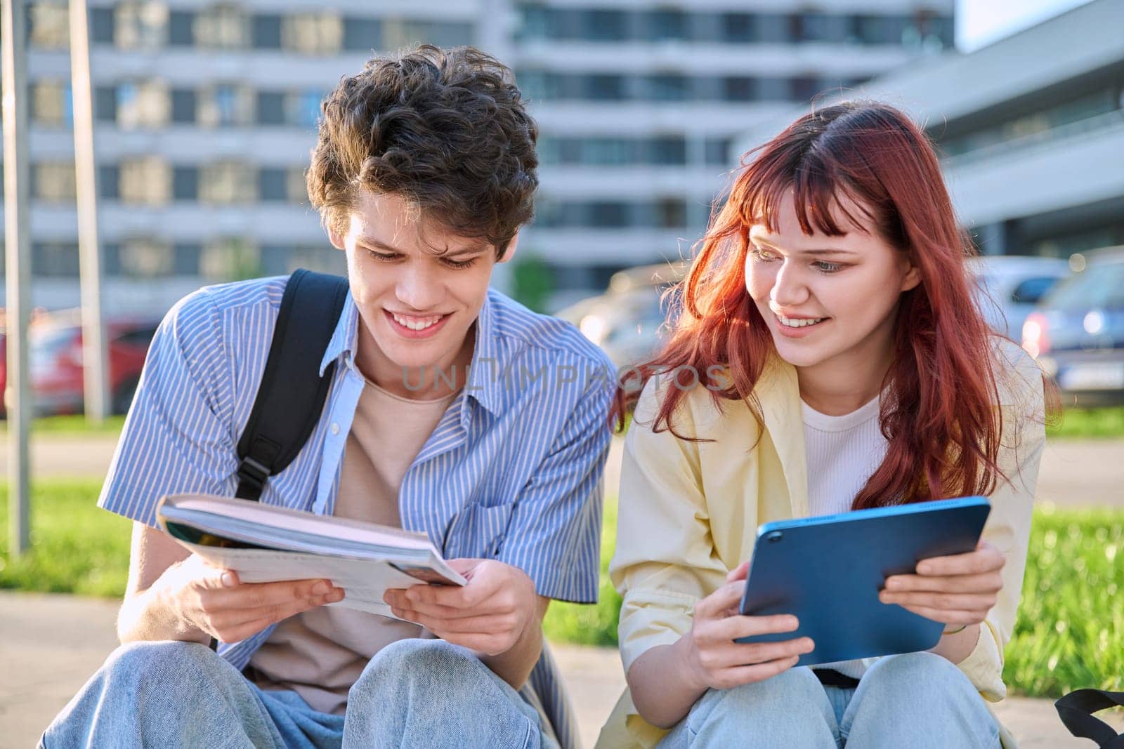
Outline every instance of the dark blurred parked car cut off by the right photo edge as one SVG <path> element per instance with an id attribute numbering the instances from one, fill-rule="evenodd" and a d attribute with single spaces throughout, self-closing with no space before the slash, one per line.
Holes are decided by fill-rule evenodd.
<path id="1" fill-rule="evenodd" d="M 1089 253 L 1023 325 L 1023 348 L 1068 404 L 1124 403 L 1124 246 Z"/>

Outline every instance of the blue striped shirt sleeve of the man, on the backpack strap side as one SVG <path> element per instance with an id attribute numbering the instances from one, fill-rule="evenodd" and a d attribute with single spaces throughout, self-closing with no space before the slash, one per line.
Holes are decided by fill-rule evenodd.
<path id="1" fill-rule="evenodd" d="M 156 527 L 165 494 L 232 495 L 237 456 L 233 383 L 219 313 L 206 290 L 183 299 L 153 337 L 98 505 Z"/>

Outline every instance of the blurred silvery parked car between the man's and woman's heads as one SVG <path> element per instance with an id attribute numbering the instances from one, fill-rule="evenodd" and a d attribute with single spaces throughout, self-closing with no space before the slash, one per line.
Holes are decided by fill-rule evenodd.
<path id="1" fill-rule="evenodd" d="M 663 292 L 682 280 L 686 263 L 660 263 L 613 274 L 604 294 L 584 299 L 555 317 L 573 322 L 617 367 L 654 355 L 664 340 L 669 309 Z"/>

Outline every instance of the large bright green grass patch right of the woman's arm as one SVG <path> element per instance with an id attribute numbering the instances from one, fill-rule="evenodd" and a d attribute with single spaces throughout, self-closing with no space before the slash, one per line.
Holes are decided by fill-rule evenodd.
<path id="1" fill-rule="evenodd" d="M 1124 512 L 1035 512 L 1006 655 L 1004 676 L 1017 693 L 1124 688 Z"/>

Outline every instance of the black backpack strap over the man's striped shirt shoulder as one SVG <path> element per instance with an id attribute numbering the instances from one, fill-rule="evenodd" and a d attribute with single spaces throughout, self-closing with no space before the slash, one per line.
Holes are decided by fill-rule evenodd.
<path id="1" fill-rule="evenodd" d="M 289 276 L 254 409 L 238 440 L 235 496 L 260 499 L 265 481 L 292 463 L 316 428 L 335 372 L 332 362 L 321 377 L 320 362 L 346 296 L 346 278 L 305 270 Z"/>

